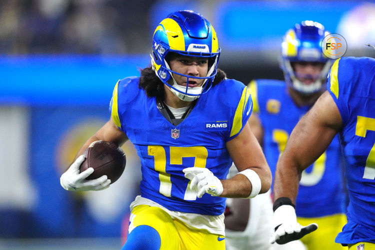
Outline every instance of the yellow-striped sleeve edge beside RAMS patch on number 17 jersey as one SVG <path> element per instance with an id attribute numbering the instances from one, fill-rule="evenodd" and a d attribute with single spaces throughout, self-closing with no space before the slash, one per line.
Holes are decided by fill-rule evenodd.
<path id="1" fill-rule="evenodd" d="M 241 96 L 236 105 L 233 118 L 231 120 L 231 129 L 228 140 L 236 137 L 246 125 L 252 111 L 252 100 L 250 90 L 247 86 L 242 89 Z"/>

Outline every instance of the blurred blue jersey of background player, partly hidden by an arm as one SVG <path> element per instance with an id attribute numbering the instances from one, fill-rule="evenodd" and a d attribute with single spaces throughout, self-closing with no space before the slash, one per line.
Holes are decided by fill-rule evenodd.
<path id="1" fill-rule="evenodd" d="M 274 176 L 279 155 L 299 119 L 310 106 L 297 106 L 281 80 L 259 79 L 249 83 L 253 111 L 264 129 L 263 150 Z M 342 156 L 338 136 L 327 150 L 302 172 L 296 198 L 299 217 L 320 217 L 343 213 Z"/>

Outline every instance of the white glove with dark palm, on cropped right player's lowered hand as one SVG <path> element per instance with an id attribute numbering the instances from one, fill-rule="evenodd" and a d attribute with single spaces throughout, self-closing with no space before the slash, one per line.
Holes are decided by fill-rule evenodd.
<path id="1" fill-rule="evenodd" d="M 275 232 L 269 238 L 269 243 L 285 244 L 297 240 L 317 229 L 316 223 L 302 226 L 297 222 L 295 209 L 291 205 L 281 205 L 273 212 L 273 227 Z"/>

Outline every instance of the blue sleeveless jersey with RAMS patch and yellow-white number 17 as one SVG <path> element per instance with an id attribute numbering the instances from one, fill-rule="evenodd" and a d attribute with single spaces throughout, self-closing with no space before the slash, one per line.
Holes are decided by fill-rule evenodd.
<path id="1" fill-rule="evenodd" d="M 201 95 L 189 115 L 174 126 L 138 82 L 138 77 L 119 80 L 110 110 L 140 157 L 141 196 L 174 211 L 223 213 L 225 198 L 207 193 L 197 198 L 182 169 L 206 167 L 219 179 L 226 178 L 232 160 L 225 142 L 239 134 L 251 114 L 248 88 L 232 79 L 221 81 Z"/>

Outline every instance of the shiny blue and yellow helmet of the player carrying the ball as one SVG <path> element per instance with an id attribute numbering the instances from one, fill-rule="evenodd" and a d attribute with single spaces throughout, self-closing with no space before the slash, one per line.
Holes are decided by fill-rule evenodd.
<path id="1" fill-rule="evenodd" d="M 205 77 L 180 74 L 170 69 L 166 56 L 169 52 L 208 58 Z M 192 101 L 212 86 L 220 55 L 216 32 L 199 13 L 182 10 L 170 13 L 156 27 L 152 37 L 151 65 L 156 75 L 181 100 Z M 204 79 L 200 87 L 181 86 L 172 73 L 189 78 Z"/>

